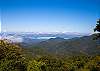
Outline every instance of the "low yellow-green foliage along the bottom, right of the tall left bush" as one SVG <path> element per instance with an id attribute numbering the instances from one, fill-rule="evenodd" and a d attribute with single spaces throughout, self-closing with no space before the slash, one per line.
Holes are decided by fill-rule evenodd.
<path id="1" fill-rule="evenodd" d="M 64 60 L 43 56 L 30 61 L 27 69 L 28 71 L 100 71 L 100 56 L 73 56 Z"/>

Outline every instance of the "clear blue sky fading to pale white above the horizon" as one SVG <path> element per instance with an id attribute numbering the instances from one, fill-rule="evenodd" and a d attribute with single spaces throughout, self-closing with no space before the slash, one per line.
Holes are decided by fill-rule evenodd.
<path id="1" fill-rule="evenodd" d="M 1 30 L 92 33 L 100 0 L 0 0 Z"/>

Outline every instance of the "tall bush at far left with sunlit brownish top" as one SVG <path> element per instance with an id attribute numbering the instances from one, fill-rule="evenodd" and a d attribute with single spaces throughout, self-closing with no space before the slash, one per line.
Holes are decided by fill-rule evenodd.
<path id="1" fill-rule="evenodd" d="M 23 71 L 24 61 L 20 47 L 7 40 L 0 40 L 0 71 Z"/>

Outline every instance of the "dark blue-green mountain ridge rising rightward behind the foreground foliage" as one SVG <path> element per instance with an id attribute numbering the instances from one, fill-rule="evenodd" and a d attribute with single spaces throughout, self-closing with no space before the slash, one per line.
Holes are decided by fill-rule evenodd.
<path id="1" fill-rule="evenodd" d="M 94 37 L 95 35 L 74 37 L 71 39 L 56 37 L 41 41 L 37 44 L 31 44 L 30 46 L 28 45 L 28 49 L 31 50 L 32 53 L 36 52 L 38 49 L 39 53 L 43 52 L 64 56 L 80 54 L 90 56 L 100 55 L 100 39 L 95 40 Z"/>

